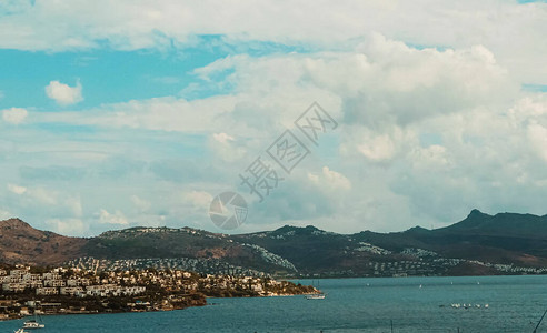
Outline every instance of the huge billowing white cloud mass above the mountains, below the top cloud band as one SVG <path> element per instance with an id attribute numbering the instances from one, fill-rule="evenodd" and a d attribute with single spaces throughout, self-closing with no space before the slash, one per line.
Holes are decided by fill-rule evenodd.
<path id="1" fill-rule="evenodd" d="M 227 70 L 229 77 L 212 80 Z M 351 50 L 228 57 L 196 72 L 205 80 L 230 82 L 233 93 L 191 101 L 135 100 L 63 112 L 62 118 L 40 114 L 41 121 L 205 138 L 202 149 L 212 154 L 188 160 L 169 155 L 140 168 L 158 176 L 167 193 L 178 193 L 175 184 L 192 189 L 177 200 L 149 198 L 148 221 L 182 219 L 207 228 L 210 193 L 237 186 L 245 163 L 294 127 L 315 100 L 340 123 L 335 141 L 330 148 L 321 143 L 265 204 L 252 206 L 246 228 L 252 221 L 290 221 L 339 231 L 392 231 L 454 222 L 477 206 L 530 212 L 541 206 L 528 194 L 510 202 L 499 189 L 509 193 L 541 183 L 543 132 L 534 124 L 547 127 L 545 100 L 523 95 L 497 56 L 483 46 L 417 49 L 372 34 Z M 428 133 L 438 138 L 420 139 Z M 145 145 L 137 145 L 145 153 Z M 132 193 L 138 192 L 127 198 L 138 208 L 142 202 Z M 103 220 L 117 215 L 101 212 Z M 328 228 L 335 215 L 345 222 Z"/>

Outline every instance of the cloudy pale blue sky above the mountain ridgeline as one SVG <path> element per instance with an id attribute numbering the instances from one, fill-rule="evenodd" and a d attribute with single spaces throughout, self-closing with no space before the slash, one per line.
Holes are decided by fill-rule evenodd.
<path id="1" fill-rule="evenodd" d="M 236 233 L 547 214 L 546 31 L 545 1 L 1 1 L 0 219 L 226 232 L 226 191 Z M 317 142 L 295 123 L 314 103 Z"/>

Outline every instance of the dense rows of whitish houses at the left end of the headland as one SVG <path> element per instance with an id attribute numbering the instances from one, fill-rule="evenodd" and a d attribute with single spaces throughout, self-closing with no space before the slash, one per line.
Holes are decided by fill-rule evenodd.
<path id="1" fill-rule="evenodd" d="M 47 272 L 33 274 L 29 266 L 17 266 L 11 271 L 0 269 L 0 284 L 2 291 L 23 292 L 34 290 L 37 295 L 72 295 L 79 297 L 86 296 L 121 296 L 138 295 L 146 291 L 146 286 L 121 286 L 115 283 L 108 283 L 108 280 L 86 279 L 71 276 L 64 279 L 59 272 Z"/>

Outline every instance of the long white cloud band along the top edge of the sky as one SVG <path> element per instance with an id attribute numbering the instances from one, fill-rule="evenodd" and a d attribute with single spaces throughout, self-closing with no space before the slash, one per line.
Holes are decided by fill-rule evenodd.
<path id="1" fill-rule="evenodd" d="M 538 84 L 547 71 L 541 56 L 547 53 L 543 2 L 378 0 L 340 1 L 334 7 L 271 0 L 219 9 L 215 1 L 39 1 L 10 12 L 0 23 L 4 49 L 62 51 L 100 48 L 106 42 L 119 50 L 165 50 L 193 46 L 199 42 L 196 36 L 205 34 L 223 36 L 233 44 L 267 41 L 339 49 L 377 31 L 420 46 L 483 44 L 515 75 Z"/>

